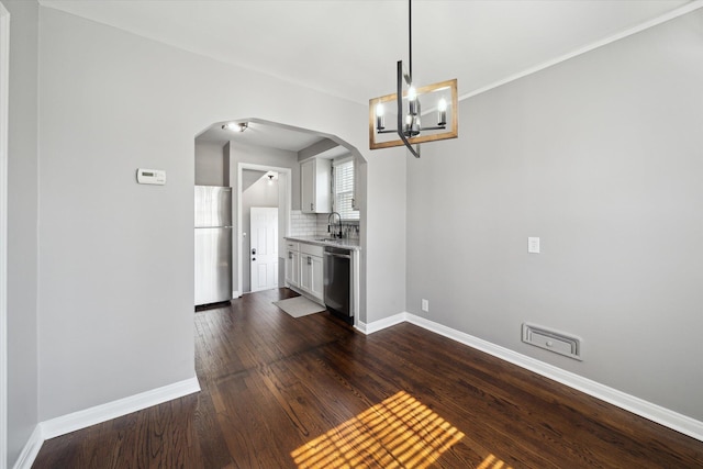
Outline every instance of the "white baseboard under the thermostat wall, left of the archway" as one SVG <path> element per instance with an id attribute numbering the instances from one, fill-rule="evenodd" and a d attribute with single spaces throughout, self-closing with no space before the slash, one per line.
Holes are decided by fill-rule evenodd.
<path id="1" fill-rule="evenodd" d="M 42 438 L 55 438 L 90 425 L 107 422 L 199 391 L 200 383 L 198 382 L 198 378 L 193 377 L 129 398 L 108 402 L 107 404 L 96 405 L 94 407 L 52 418 L 40 423 Z"/>

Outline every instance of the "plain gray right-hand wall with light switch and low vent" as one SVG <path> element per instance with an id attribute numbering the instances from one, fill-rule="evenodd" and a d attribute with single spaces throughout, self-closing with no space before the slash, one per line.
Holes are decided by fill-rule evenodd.
<path id="1" fill-rule="evenodd" d="M 459 138 L 408 164 L 408 310 L 703 420 L 702 25 L 461 102 Z M 525 321 L 583 361 L 522 344 Z"/>

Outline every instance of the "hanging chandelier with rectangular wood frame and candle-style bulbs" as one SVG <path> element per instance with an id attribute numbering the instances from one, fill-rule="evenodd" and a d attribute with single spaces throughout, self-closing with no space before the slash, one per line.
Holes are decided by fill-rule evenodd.
<path id="1" fill-rule="evenodd" d="M 395 70 L 395 93 L 369 100 L 369 147 L 378 149 L 405 145 L 416 158 L 420 158 L 421 143 L 456 138 L 459 135 L 457 80 L 414 86 L 412 0 L 408 0 L 408 7 L 409 68 L 405 71 L 403 62 L 399 60 Z M 424 114 L 423 104 L 428 107 Z M 386 118 L 389 115 L 395 123 L 395 129 L 386 129 Z M 422 126 L 422 119 L 428 121 L 433 118 L 436 119 L 436 125 Z"/>

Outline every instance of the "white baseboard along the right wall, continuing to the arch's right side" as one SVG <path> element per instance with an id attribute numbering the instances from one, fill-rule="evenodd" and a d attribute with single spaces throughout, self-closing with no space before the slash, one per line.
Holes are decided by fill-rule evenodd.
<path id="1" fill-rule="evenodd" d="M 402 320 L 400 320 L 402 317 Z M 561 368 L 528 357 L 526 355 L 518 354 L 509 348 L 501 347 L 500 345 L 492 344 L 472 335 L 462 333 L 460 331 L 453 330 L 445 325 L 428 321 L 424 317 L 416 316 L 410 313 L 400 313 L 393 316 L 375 321 L 370 324 L 364 324 L 364 327 L 357 327 L 365 334 L 371 334 L 381 331 L 386 327 L 399 324 L 406 321 L 411 324 L 443 335 L 453 340 L 459 342 L 469 347 L 473 347 L 481 351 L 486 351 L 496 358 L 510 361 L 513 365 L 517 365 L 521 368 L 528 369 L 542 375 L 546 378 L 558 381 L 569 388 L 577 389 L 589 395 L 598 398 L 602 401 L 609 402 L 621 409 L 629 411 L 634 414 L 648 418 L 652 422 L 667 426 L 671 429 L 680 432 L 692 438 L 703 442 L 703 422 L 696 421 L 678 412 L 662 407 L 616 389 L 610 388 L 600 382 L 583 378 L 571 371 L 562 370 Z"/>

